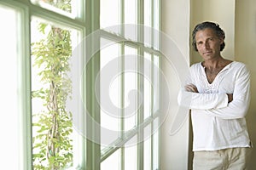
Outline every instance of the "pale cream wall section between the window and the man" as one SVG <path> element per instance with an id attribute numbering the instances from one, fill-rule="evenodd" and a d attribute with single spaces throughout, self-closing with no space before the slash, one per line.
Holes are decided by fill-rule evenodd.
<path id="1" fill-rule="evenodd" d="M 183 59 L 184 65 L 189 66 L 189 0 L 162 0 L 162 26 L 161 30 L 173 43 L 162 42 L 163 54 L 171 50 L 173 60 L 179 62 Z M 169 56 L 170 57 L 170 56 Z M 177 77 L 175 61 L 164 56 L 161 60 L 164 77 L 168 82 L 170 99 L 163 100 L 164 105 L 170 104 L 170 111 L 164 117 L 161 125 L 160 143 L 160 169 L 162 170 L 185 170 L 188 169 L 189 160 L 189 119 L 184 118 L 183 126 L 177 133 L 171 133 L 172 123 L 177 114 L 177 92 L 180 88 L 180 80 Z M 167 90 L 163 92 L 167 93 Z M 189 115 L 189 113 L 186 113 Z"/>

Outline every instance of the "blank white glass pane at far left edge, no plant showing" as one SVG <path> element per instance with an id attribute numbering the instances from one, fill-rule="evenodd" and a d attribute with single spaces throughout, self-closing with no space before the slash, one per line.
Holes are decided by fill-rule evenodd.
<path id="1" fill-rule="evenodd" d="M 2 169 L 19 169 L 19 84 L 18 82 L 18 37 L 19 13 L 12 8 L 0 4 L 0 103 L 2 118 L 0 119 L 0 149 Z M 4 16 L 4 17 L 3 17 Z M 20 79 L 21 80 L 21 79 Z"/>

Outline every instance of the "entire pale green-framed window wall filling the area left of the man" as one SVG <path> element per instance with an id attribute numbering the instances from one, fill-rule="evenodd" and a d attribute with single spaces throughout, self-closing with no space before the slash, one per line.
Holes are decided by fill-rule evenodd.
<path id="1" fill-rule="evenodd" d="M 1 166 L 159 169 L 159 3 L 0 2 Z"/>

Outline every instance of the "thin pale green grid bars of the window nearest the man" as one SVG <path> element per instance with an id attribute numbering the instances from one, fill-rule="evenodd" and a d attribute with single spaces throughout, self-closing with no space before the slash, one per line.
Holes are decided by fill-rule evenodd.
<path id="1" fill-rule="evenodd" d="M 120 24 L 124 24 L 124 1 L 125 0 L 120 0 L 120 6 L 121 6 L 121 16 L 119 17 L 121 20 L 120 20 Z M 151 1 L 151 14 L 152 16 L 154 16 L 154 5 L 155 5 L 155 2 L 154 0 L 150 0 Z M 144 23 L 144 6 L 143 6 L 143 0 L 140 1 L 138 0 L 137 1 L 137 11 L 140 11 L 139 14 L 137 14 L 137 24 L 138 25 L 143 25 Z M 160 10 L 160 1 L 159 1 L 159 10 Z M 158 14 L 159 18 L 159 22 L 160 22 L 160 14 Z M 152 17 L 152 20 L 151 20 L 151 27 L 154 27 L 154 17 Z M 137 31 L 138 32 L 143 32 L 143 30 L 141 30 L 140 28 L 142 27 L 139 27 L 137 28 Z M 159 28 L 160 30 L 160 24 L 159 24 Z M 121 43 L 121 48 L 120 48 L 120 51 L 121 51 L 121 56 L 124 55 L 124 47 L 125 45 L 127 46 L 131 46 L 133 48 L 137 48 L 138 49 L 138 55 L 140 56 L 143 56 L 144 55 L 144 52 L 147 52 L 151 55 L 151 59 L 154 59 L 154 56 L 157 55 L 159 56 L 159 66 L 161 65 L 160 64 L 160 56 L 161 56 L 161 53 L 160 53 L 160 50 L 159 49 L 155 49 L 153 46 L 155 45 L 154 44 L 154 38 L 156 35 L 154 35 L 154 31 L 151 31 L 151 44 L 152 44 L 152 47 L 147 47 L 147 46 L 143 46 L 142 43 L 140 42 L 143 42 L 143 36 L 144 36 L 144 33 L 141 33 L 138 35 L 141 35 L 140 37 L 137 37 L 137 42 L 134 42 L 134 41 L 131 41 L 129 39 L 125 39 L 125 37 L 123 37 L 122 35 L 124 35 L 125 32 L 124 32 L 124 28 L 121 26 L 120 27 L 120 34 L 114 34 L 112 32 L 109 32 L 109 31 L 105 31 L 104 28 L 102 28 L 102 37 L 108 39 L 108 40 L 112 40 L 113 42 L 120 42 Z M 160 43 L 160 39 L 158 40 L 159 43 Z M 160 44 L 159 44 L 159 47 L 160 48 Z M 121 65 L 121 70 L 124 69 L 124 59 L 120 59 L 120 65 Z M 143 65 L 144 63 L 139 63 L 138 64 L 138 68 L 140 70 L 140 72 L 143 71 Z M 160 77 L 159 77 L 160 78 Z M 122 81 L 121 81 L 121 88 L 124 89 L 124 78 L 121 78 Z M 143 82 L 143 79 L 138 79 L 138 82 L 137 82 L 137 88 L 139 91 L 143 92 L 143 89 L 139 89 L 140 87 L 144 86 L 142 85 L 144 82 Z M 124 98 L 123 96 L 124 94 L 121 94 L 121 100 Z M 142 94 L 143 95 L 143 94 Z M 153 99 L 153 98 L 152 98 Z M 151 100 L 152 100 L 151 99 Z M 138 99 L 137 99 L 138 100 Z M 123 101 L 121 101 L 122 103 Z M 122 105 L 122 104 L 121 104 Z M 153 108 L 152 108 L 153 109 Z M 143 117 L 143 114 L 140 114 L 140 113 L 143 113 L 144 109 L 143 107 L 140 107 L 140 110 L 138 111 L 138 114 L 137 114 L 137 127 L 131 129 L 131 131 L 127 132 L 127 133 L 123 133 L 121 134 L 121 136 L 123 135 L 125 137 L 125 139 L 117 139 L 113 142 L 113 144 L 111 144 L 110 147 L 106 147 L 102 150 L 102 158 L 101 158 L 101 161 L 104 161 L 105 159 L 108 158 L 108 156 L 111 156 L 116 150 L 119 150 L 120 149 L 120 152 L 121 152 L 121 158 L 120 158 L 120 166 L 119 168 L 120 169 L 125 169 L 124 167 L 124 160 L 125 160 L 125 157 L 124 157 L 124 150 L 125 148 L 122 147 L 125 145 L 125 142 L 127 142 L 129 139 L 131 139 L 133 136 L 135 135 L 138 135 L 138 138 L 140 138 L 139 140 L 142 140 L 143 139 L 143 129 L 144 127 L 147 127 L 148 125 L 151 126 L 151 130 L 154 129 L 154 120 L 156 118 L 160 118 L 160 113 L 155 113 L 151 116 L 149 116 L 146 120 L 144 120 L 144 117 Z M 158 123 L 160 123 L 160 119 L 158 121 Z M 120 122 L 121 124 L 121 128 L 120 128 L 120 131 L 124 130 L 123 129 L 123 122 L 121 120 Z M 143 129 L 139 129 L 139 127 L 143 128 Z M 157 150 L 160 150 L 160 129 L 158 130 L 158 138 L 159 138 L 159 141 L 158 141 L 158 149 Z M 153 136 L 153 135 L 152 135 Z M 154 149 L 153 147 L 154 146 L 154 137 L 150 137 L 150 142 L 151 142 L 151 165 L 149 165 L 150 169 L 153 169 L 154 168 L 154 162 L 152 160 L 154 160 Z M 116 146 L 119 146 L 119 147 L 113 147 L 113 145 L 116 145 Z M 137 169 L 143 169 L 143 152 L 144 150 L 144 146 L 143 146 L 143 142 L 141 143 L 138 143 L 137 144 Z M 160 161 L 160 152 L 159 152 L 159 155 L 158 155 L 158 161 Z M 157 168 L 160 168 L 159 167 L 160 165 L 158 164 L 157 165 Z"/>

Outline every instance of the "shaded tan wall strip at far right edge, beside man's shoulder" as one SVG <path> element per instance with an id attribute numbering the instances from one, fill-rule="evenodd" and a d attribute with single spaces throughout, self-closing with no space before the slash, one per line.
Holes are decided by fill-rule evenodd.
<path id="1" fill-rule="evenodd" d="M 256 1 L 236 0 L 235 25 L 236 60 L 247 64 L 251 71 L 251 105 L 247 113 L 247 125 L 254 143 L 253 156 L 249 169 L 256 167 Z"/>

